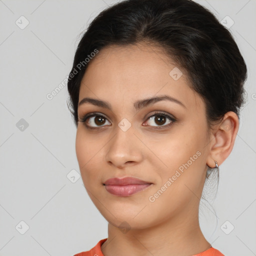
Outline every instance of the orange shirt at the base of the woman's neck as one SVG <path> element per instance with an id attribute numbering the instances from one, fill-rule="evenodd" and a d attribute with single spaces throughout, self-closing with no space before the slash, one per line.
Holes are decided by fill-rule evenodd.
<path id="1" fill-rule="evenodd" d="M 87 251 L 83 251 L 77 254 L 74 254 L 73 256 L 104 256 L 100 246 L 102 245 L 102 243 L 106 240 L 107 238 L 104 238 L 102 240 L 100 240 L 93 248 L 91 248 L 90 250 Z M 192 256 L 224 256 L 224 254 L 222 254 L 219 250 L 214 249 L 213 247 L 210 247 L 209 249 L 198 253 L 196 255 L 192 255 Z"/>

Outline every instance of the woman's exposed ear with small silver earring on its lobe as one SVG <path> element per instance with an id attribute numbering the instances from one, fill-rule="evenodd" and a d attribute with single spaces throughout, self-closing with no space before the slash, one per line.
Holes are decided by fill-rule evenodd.
<path id="1" fill-rule="evenodd" d="M 228 111 L 221 123 L 217 124 L 211 133 L 209 155 L 206 164 L 214 168 L 215 161 L 220 165 L 232 151 L 234 140 L 239 127 L 239 119 L 235 112 Z"/>

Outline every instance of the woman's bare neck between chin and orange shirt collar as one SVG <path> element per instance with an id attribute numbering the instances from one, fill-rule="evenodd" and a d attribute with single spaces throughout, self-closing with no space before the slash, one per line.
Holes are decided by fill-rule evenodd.
<path id="1" fill-rule="evenodd" d="M 124 232 L 109 223 L 108 238 L 101 250 L 104 256 L 186 256 L 210 247 L 200 230 L 197 211 L 193 216 L 179 213 L 154 226 Z"/>

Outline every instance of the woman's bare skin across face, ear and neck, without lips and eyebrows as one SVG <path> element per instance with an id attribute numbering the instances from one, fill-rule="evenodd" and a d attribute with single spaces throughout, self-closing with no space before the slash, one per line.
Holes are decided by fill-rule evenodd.
<path id="1" fill-rule="evenodd" d="M 220 165 L 229 155 L 239 122 L 229 111 L 221 123 L 209 129 L 204 101 L 188 86 L 185 70 L 179 68 L 183 74 L 177 80 L 169 75 L 176 66 L 154 45 L 111 45 L 89 62 L 81 81 L 79 102 L 91 97 L 111 105 L 111 110 L 91 103 L 79 105 L 75 141 L 83 184 L 109 223 L 108 239 L 101 246 L 105 256 L 182 256 L 211 246 L 199 227 L 199 198 L 207 165 L 215 167 L 214 160 Z M 136 100 L 164 94 L 185 107 L 167 100 L 139 110 L 133 107 Z M 176 121 L 166 126 L 171 122 L 168 118 L 160 123 L 155 116 L 149 120 L 153 111 L 175 117 Z M 81 122 L 91 112 L 103 115 L 105 122 L 100 124 L 97 116 Z M 131 123 L 126 131 L 118 126 L 123 118 Z M 99 129 L 89 129 L 86 124 Z M 150 201 L 149 196 L 196 152 L 200 155 Z M 106 179 L 125 176 L 152 185 L 125 197 L 106 191 Z M 124 229 L 118 227 L 120 224 Z"/>

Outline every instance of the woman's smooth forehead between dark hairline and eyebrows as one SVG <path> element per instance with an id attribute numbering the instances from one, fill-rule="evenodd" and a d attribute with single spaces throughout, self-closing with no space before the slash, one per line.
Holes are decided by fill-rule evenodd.
<path id="1" fill-rule="evenodd" d="M 175 70 L 180 70 L 178 79 L 173 79 Z M 110 45 L 88 63 L 81 81 L 79 101 L 90 96 L 113 103 L 120 103 L 120 100 L 134 102 L 158 93 L 169 94 L 190 106 L 200 106 L 201 98 L 189 84 L 186 71 L 178 67 L 161 47 L 147 43 Z"/>

